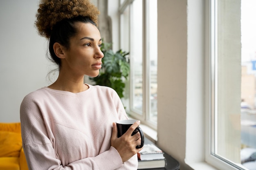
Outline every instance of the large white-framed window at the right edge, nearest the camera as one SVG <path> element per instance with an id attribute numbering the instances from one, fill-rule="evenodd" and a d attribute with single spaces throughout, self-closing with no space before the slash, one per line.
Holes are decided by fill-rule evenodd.
<path id="1" fill-rule="evenodd" d="M 220 169 L 256 167 L 256 1 L 211 0 L 211 141 Z"/>

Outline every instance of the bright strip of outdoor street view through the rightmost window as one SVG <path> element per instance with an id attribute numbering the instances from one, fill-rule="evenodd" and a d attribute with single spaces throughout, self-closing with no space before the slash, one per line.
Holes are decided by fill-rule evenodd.
<path id="1" fill-rule="evenodd" d="M 241 1 L 241 163 L 256 168 L 256 1 Z M 254 167 L 254 168 L 253 168 Z"/>

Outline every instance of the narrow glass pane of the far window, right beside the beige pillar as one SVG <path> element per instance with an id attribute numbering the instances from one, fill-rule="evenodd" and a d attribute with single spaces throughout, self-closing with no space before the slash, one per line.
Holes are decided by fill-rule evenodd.
<path id="1" fill-rule="evenodd" d="M 149 119 L 157 122 L 157 0 L 148 0 L 147 42 L 150 69 L 150 114 Z"/>

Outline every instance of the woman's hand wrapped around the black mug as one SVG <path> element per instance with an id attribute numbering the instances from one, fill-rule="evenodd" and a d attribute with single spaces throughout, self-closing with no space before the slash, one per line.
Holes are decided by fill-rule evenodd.
<path id="1" fill-rule="evenodd" d="M 113 123 L 111 146 L 113 146 L 122 158 L 123 162 L 128 161 L 133 155 L 137 154 L 142 148 L 136 146 L 141 144 L 140 134 L 137 132 L 132 136 L 132 132 L 139 126 L 140 121 L 136 121 L 121 137 L 117 137 L 117 124 Z"/>

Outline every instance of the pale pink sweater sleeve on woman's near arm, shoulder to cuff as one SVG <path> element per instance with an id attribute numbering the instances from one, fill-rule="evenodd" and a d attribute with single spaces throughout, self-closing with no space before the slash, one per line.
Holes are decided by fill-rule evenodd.
<path id="1" fill-rule="evenodd" d="M 115 170 L 123 166 L 119 153 L 113 147 L 96 157 L 80 159 L 63 166 L 57 159 L 54 142 L 47 135 L 47 125 L 40 108 L 30 98 L 25 97 L 22 101 L 20 122 L 22 144 L 30 170 Z"/>

